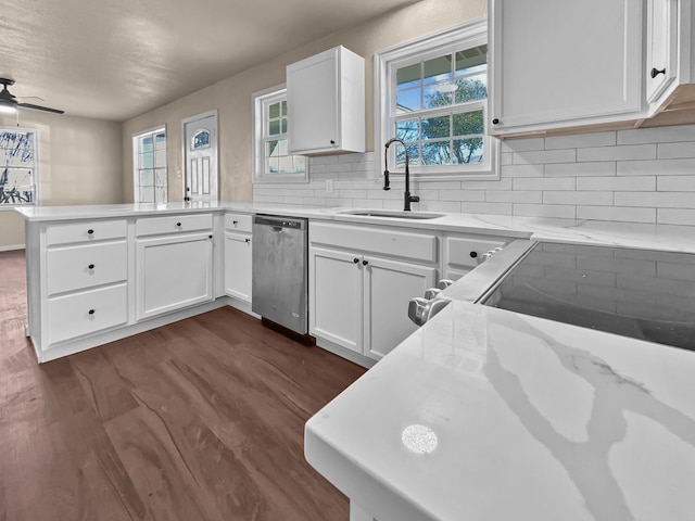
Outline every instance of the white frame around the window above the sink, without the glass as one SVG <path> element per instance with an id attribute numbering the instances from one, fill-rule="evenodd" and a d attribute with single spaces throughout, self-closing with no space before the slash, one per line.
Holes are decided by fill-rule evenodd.
<path id="1" fill-rule="evenodd" d="M 400 67 L 413 65 L 422 61 L 439 58 L 447 53 L 454 53 L 464 49 L 489 45 L 488 18 L 485 16 L 459 24 L 447 29 L 406 41 L 397 46 L 375 53 L 375 163 L 376 175 L 383 175 L 386 150 L 383 143 L 395 137 L 395 120 L 403 118 L 394 110 L 395 99 L 395 72 Z M 490 49 L 490 48 L 489 48 Z M 490 52 L 490 51 L 489 51 Z M 488 59 L 490 65 L 490 58 Z M 488 77 L 490 71 L 488 69 Z M 500 147 L 498 140 L 488 131 L 488 103 L 491 94 L 488 85 L 488 98 L 466 102 L 470 109 L 466 112 L 483 111 L 483 140 L 485 142 L 485 161 L 476 164 L 450 164 L 434 166 L 410 166 L 410 178 L 417 181 L 442 181 L 463 179 L 498 179 L 500 178 Z M 415 117 L 421 115 L 437 116 L 453 114 L 452 106 L 422 109 L 414 113 Z M 459 105 L 462 106 L 462 105 Z M 389 149 L 389 171 L 403 175 L 404 168 L 396 167 L 395 149 Z"/>

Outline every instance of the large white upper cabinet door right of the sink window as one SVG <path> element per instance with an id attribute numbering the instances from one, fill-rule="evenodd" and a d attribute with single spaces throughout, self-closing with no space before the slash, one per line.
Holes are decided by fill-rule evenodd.
<path id="1" fill-rule="evenodd" d="M 642 110 L 642 1 L 490 5 L 492 134 L 605 123 Z"/>

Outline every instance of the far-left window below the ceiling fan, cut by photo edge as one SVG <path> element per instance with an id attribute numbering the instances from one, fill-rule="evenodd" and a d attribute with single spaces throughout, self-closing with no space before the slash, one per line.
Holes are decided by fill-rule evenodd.
<path id="1" fill-rule="evenodd" d="M 0 127 L 0 206 L 36 204 L 36 130 Z"/>

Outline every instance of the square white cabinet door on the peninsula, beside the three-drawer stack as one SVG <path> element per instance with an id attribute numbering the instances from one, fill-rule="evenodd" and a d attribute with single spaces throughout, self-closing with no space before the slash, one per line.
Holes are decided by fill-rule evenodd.
<path id="1" fill-rule="evenodd" d="M 137 319 L 213 298 L 213 240 L 207 233 L 137 241 Z"/>

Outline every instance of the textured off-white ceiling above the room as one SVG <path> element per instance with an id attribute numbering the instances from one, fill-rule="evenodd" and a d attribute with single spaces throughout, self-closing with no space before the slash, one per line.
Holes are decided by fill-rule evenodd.
<path id="1" fill-rule="evenodd" d="M 0 77 L 125 120 L 414 0 L 0 0 Z"/>

